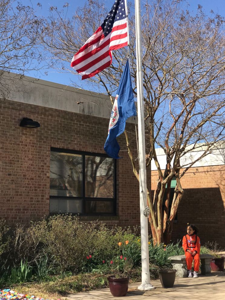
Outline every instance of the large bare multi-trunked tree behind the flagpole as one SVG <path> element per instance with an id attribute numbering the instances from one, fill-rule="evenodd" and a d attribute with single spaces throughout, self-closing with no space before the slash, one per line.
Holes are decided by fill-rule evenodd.
<path id="1" fill-rule="evenodd" d="M 68 5 L 62 11 L 52 7 L 43 27 L 45 37 L 42 40 L 51 52 L 54 64 L 56 61 L 69 63 L 107 13 L 104 3 L 98 0 L 89 0 L 72 19 L 66 18 L 67 9 Z M 130 6 L 129 57 L 136 94 L 133 11 Z M 155 243 L 168 243 L 171 239 L 172 224 L 184 194 L 180 179 L 224 139 L 223 24 L 220 15 L 211 11 L 211 16 L 207 16 L 200 5 L 197 14 L 192 15 L 186 2 L 181 0 L 153 0 L 142 10 L 146 167 L 151 168 L 153 159 L 159 175 L 153 197 L 148 184 L 149 222 Z M 89 79 L 93 87 L 105 89 L 111 102 L 126 63 L 127 49 L 113 51 L 112 56 L 112 65 Z M 133 171 L 139 180 L 139 167 L 134 157 L 136 151 L 129 145 L 128 133 L 125 134 Z M 162 148 L 166 155 L 163 167 L 158 162 L 157 147 Z M 188 155 L 198 149 L 200 154 L 191 162 L 187 160 Z M 176 188 L 169 215 L 170 183 L 174 176 Z M 166 201 L 162 211 L 164 195 Z"/>

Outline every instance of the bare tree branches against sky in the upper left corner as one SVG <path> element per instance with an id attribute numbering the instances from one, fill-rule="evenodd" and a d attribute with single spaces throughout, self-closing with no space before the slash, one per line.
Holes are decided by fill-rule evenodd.
<path id="1" fill-rule="evenodd" d="M 41 48 L 38 29 L 41 19 L 34 15 L 31 6 L 15 0 L 0 2 L 0 96 L 5 98 L 15 88 L 12 76 L 7 83 L 7 72 L 24 75 L 40 69 Z"/>

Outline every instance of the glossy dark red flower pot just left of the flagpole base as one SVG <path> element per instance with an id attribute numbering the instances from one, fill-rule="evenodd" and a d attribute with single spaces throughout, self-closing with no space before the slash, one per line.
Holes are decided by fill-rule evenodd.
<path id="1" fill-rule="evenodd" d="M 114 297 L 124 297 L 128 291 L 129 277 L 127 278 L 107 278 L 109 281 L 109 289 Z"/>

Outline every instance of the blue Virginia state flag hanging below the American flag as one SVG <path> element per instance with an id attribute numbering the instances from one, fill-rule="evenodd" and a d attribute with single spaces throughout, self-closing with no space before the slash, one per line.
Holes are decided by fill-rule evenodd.
<path id="1" fill-rule="evenodd" d="M 126 119 L 136 115 L 130 65 L 129 60 L 127 60 L 113 104 L 109 121 L 108 137 L 104 145 L 105 152 L 110 157 L 119 158 L 118 153 L 120 147 L 116 138 L 124 132 Z"/>

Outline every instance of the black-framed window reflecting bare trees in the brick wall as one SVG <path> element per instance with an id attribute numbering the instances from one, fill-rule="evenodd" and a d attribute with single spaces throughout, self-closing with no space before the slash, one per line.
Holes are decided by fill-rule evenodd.
<path id="1" fill-rule="evenodd" d="M 51 148 L 50 213 L 115 215 L 115 174 L 107 155 Z"/>

